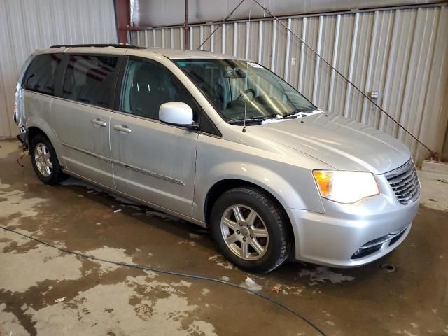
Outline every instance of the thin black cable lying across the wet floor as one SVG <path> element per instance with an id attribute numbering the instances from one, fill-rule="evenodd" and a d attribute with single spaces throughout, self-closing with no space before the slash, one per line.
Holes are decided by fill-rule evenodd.
<path id="1" fill-rule="evenodd" d="M 137 268 L 137 269 L 144 269 L 146 271 L 151 271 L 151 272 L 155 272 L 155 273 L 176 275 L 176 276 L 181 276 L 181 277 L 189 278 L 189 279 L 198 279 L 198 280 L 206 280 L 206 281 L 211 281 L 211 282 L 216 282 L 216 283 L 222 283 L 223 285 L 226 285 L 226 286 L 239 288 L 241 290 L 245 290 L 248 293 L 252 293 L 253 295 L 261 297 L 264 300 L 272 302 L 272 303 L 276 304 L 277 306 L 279 306 L 279 307 L 281 307 L 283 309 L 286 309 L 291 314 L 294 314 L 298 318 L 302 319 L 302 321 L 304 321 L 305 323 L 311 325 L 311 327 L 313 327 L 315 330 L 317 330 L 321 335 L 326 336 L 325 332 L 323 332 L 320 328 L 318 328 L 317 325 L 315 325 L 314 323 L 309 321 L 309 319 L 304 317 L 302 314 L 297 313 L 297 311 L 295 311 L 294 309 L 288 307 L 286 304 L 283 304 L 283 303 L 281 303 L 279 301 L 276 301 L 276 300 L 272 299 L 272 297 L 269 297 L 269 296 L 266 296 L 266 295 L 262 295 L 262 294 L 258 293 L 255 290 L 251 290 L 249 288 L 245 288 L 245 287 L 239 286 L 236 283 L 232 283 L 232 282 L 229 282 L 229 281 L 224 281 L 224 280 L 221 280 L 221 279 L 209 278 L 208 276 L 200 276 L 200 275 L 194 275 L 194 274 L 179 273 L 179 272 L 169 271 L 167 269 L 158 269 L 158 268 L 146 267 L 146 266 L 143 266 L 143 265 L 129 264 L 127 262 L 112 261 L 112 260 L 106 260 L 106 259 L 102 259 L 102 258 L 97 258 L 97 257 L 94 257 L 93 255 L 88 255 L 88 254 L 84 254 L 84 253 L 80 253 L 80 252 L 70 251 L 67 248 L 63 248 L 63 247 L 59 247 L 59 246 L 53 245 L 51 243 L 48 243 L 47 241 L 43 241 L 41 239 L 38 239 L 38 238 L 35 238 L 35 237 L 31 237 L 29 235 L 26 235 L 25 233 L 15 231 L 15 230 L 10 229 L 10 228 L 6 228 L 6 227 L 4 227 L 2 225 L 0 225 L 0 228 L 2 228 L 3 230 L 9 231 L 9 232 L 13 232 L 16 235 L 20 235 L 22 237 L 26 237 L 28 239 L 37 241 L 38 243 L 44 244 L 46 246 L 50 246 L 52 248 L 56 248 L 59 251 L 62 251 L 62 252 L 65 252 L 65 253 L 69 253 L 69 254 L 78 255 L 81 258 L 87 258 L 87 259 L 97 260 L 97 261 L 101 261 L 101 262 L 107 262 L 107 263 L 113 264 L 113 265 L 132 267 L 132 268 Z"/>

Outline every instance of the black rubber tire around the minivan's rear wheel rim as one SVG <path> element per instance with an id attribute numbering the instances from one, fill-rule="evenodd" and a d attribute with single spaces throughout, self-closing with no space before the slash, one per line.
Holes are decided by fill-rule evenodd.
<path id="1" fill-rule="evenodd" d="M 48 153 L 50 154 L 49 160 L 52 164 L 52 167 L 51 172 L 48 174 L 48 176 L 45 176 L 38 169 L 38 162 L 36 162 L 36 160 L 39 160 L 37 158 L 38 155 L 36 154 L 36 147 L 40 144 L 43 144 L 45 148 L 48 149 Z M 34 172 L 36 173 L 38 179 L 40 179 L 43 183 L 56 185 L 68 177 L 62 172 L 59 161 L 57 160 L 55 148 L 52 146 L 50 140 L 45 137 L 44 134 L 37 134 L 35 137 L 33 137 L 33 139 L 31 140 L 31 145 L 29 146 L 29 155 L 31 156 L 31 165 L 33 166 Z"/>

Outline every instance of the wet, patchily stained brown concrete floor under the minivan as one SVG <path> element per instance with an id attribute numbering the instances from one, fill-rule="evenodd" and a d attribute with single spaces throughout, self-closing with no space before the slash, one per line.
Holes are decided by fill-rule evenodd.
<path id="1" fill-rule="evenodd" d="M 15 141 L 0 146 L 3 226 L 99 258 L 237 284 L 249 276 L 327 335 L 448 334 L 448 184 L 440 176 L 420 174 L 414 227 L 381 260 L 356 269 L 287 262 L 259 276 L 223 260 L 207 231 L 76 179 L 45 186 L 29 156 L 18 165 Z M 1 336 L 317 335 L 288 311 L 219 283 L 80 258 L 1 229 L 0 249 Z"/>

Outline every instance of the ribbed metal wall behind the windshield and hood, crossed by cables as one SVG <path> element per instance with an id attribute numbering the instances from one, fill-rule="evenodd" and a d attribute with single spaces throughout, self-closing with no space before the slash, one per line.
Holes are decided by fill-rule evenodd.
<path id="1" fill-rule="evenodd" d="M 448 8 L 435 6 L 284 18 L 287 27 L 364 92 L 379 91 L 379 105 L 433 151 L 447 129 Z M 190 27 L 191 49 L 214 25 Z M 132 33 L 132 43 L 183 48 L 183 28 Z M 322 109 L 378 128 L 405 142 L 420 162 L 428 151 L 363 99 L 329 66 L 274 20 L 230 22 L 203 50 L 248 57 L 272 69 Z"/>

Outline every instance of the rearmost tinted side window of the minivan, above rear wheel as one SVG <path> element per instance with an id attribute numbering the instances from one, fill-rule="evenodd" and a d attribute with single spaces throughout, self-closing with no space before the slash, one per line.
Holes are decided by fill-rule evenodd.
<path id="1" fill-rule="evenodd" d="M 55 76 L 61 63 L 60 54 L 43 54 L 34 57 L 23 78 L 27 90 L 45 94 L 55 94 Z"/>

